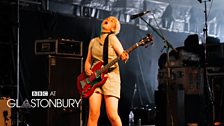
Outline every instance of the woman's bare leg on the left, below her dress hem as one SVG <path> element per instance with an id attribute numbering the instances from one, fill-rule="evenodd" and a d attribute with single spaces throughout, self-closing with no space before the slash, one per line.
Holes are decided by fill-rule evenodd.
<path id="1" fill-rule="evenodd" d="M 102 94 L 93 93 L 89 97 L 89 117 L 87 126 L 97 126 L 100 117 L 100 107 L 102 102 Z"/>

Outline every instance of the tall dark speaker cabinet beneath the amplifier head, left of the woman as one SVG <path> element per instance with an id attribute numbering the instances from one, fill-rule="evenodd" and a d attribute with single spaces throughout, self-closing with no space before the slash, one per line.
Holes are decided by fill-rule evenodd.
<path id="1" fill-rule="evenodd" d="M 79 101 L 80 95 L 76 88 L 76 77 L 82 72 L 83 59 L 77 57 L 48 56 L 50 99 Z M 74 104 L 75 106 L 77 104 Z M 78 126 L 81 125 L 81 102 L 77 107 L 51 107 L 48 109 L 48 126 Z"/>

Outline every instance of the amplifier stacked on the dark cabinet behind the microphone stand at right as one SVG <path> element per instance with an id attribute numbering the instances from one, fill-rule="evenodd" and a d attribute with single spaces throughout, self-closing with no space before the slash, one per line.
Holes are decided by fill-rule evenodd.
<path id="1" fill-rule="evenodd" d="M 166 69 L 160 69 L 158 82 L 160 87 L 166 86 L 168 75 Z M 203 94 L 204 92 L 203 68 L 176 67 L 170 69 L 169 85 L 174 89 L 183 88 L 186 94 Z"/>

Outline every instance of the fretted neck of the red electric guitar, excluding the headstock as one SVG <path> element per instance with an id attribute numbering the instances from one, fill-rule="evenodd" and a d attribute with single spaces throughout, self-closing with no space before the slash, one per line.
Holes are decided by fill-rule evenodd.
<path id="1" fill-rule="evenodd" d="M 135 50 L 138 47 L 138 43 L 134 44 L 133 46 L 131 46 L 130 48 L 128 48 L 127 50 L 125 50 L 127 53 L 131 53 L 133 50 Z M 120 56 L 118 56 L 116 59 L 112 60 L 110 63 L 108 63 L 107 65 L 105 65 L 103 68 L 101 68 L 97 74 L 102 74 L 103 72 L 105 72 L 106 70 L 108 70 L 111 66 L 113 66 L 115 63 L 117 63 L 119 60 L 121 59 Z"/>

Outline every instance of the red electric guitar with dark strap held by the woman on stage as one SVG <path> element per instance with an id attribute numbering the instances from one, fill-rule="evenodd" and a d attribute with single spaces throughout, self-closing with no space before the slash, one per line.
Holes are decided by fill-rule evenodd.
<path id="1" fill-rule="evenodd" d="M 148 34 L 145 38 L 141 39 L 138 43 L 134 44 L 130 48 L 126 50 L 127 53 L 132 52 L 139 46 L 144 46 L 146 44 L 152 44 L 152 36 Z M 102 67 L 103 62 L 97 63 L 93 68 L 93 74 L 91 76 L 86 76 L 85 72 L 82 72 L 78 77 L 77 77 L 77 89 L 82 95 L 83 98 L 88 98 L 91 96 L 94 92 L 94 90 L 97 87 L 102 86 L 106 80 L 107 77 L 104 76 L 105 73 L 107 73 L 107 70 L 114 65 L 116 62 L 120 60 L 120 57 L 117 57 L 104 67 Z"/>

